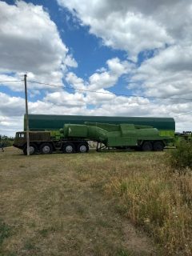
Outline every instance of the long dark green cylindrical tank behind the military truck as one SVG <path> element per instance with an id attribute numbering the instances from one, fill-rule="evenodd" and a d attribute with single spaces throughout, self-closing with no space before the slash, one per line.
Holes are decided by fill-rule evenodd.
<path id="1" fill-rule="evenodd" d="M 160 130 L 162 135 L 169 136 L 174 136 L 175 130 L 174 118 L 29 114 L 30 130 L 58 130 L 67 123 L 83 124 L 84 122 L 102 122 L 116 125 L 130 123 L 138 126 L 153 126 Z M 24 130 L 26 130 L 26 118 L 24 118 Z"/>

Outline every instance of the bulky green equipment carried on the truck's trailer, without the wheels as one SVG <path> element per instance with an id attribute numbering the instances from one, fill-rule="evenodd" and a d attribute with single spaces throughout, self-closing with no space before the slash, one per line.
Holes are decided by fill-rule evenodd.
<path id="1" fill-rule="evenodd" d="M 66 124 L 63 126 L 64 138 L 102 142 L 105 146 L 138 146 L 143 141 L 163 141 L 156 128 L 134 126 L 134 124 L 110 125 L 105 123 L 86 123 L 85 125 Z"/>

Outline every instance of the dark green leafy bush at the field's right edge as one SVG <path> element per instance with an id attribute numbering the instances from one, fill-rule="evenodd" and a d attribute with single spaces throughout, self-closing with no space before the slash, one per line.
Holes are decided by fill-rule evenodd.
<path id="1" fill-rule="evenodd" d="M 192 170 L 192 142 L 182 141 L 170 152 L 170 166 L 176 170 Z"/>

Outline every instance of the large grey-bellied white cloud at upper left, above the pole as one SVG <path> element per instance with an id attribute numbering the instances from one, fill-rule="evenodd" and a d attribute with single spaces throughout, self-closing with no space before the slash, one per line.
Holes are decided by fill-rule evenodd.
<path id="1" fill-rule="evenodd" d="M 0 38 L 0 74 L 10 79 L 13 72 L 17 78 L 28 72 L 29 78 L 62 85 L 67 66 L 78 66 L 42 6 L 0 1 Z M 7 86 L 22 90 L 17 84 Z"/>

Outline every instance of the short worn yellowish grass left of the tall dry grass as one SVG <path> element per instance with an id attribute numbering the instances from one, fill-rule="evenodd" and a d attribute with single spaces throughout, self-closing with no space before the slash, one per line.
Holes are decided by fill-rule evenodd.
<path id="1" fill-rule="evenodd" d="M 136 152 L 0 153 L 0 255 L 158 255 L 106 193 Z M 143 158 L 145 161 L 145 158 Z M 129 171 L 129 170 L 127 170 Z"/>

